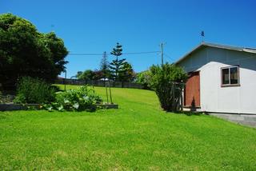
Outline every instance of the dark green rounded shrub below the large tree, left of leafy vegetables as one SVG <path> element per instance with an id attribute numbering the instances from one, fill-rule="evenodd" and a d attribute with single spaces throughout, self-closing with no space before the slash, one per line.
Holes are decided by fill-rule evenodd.
<path id="1" fill-rule="evenodd" d="M 22 77 L 18 82 L 16 103 L 48 103 L 54 101 L 55 91 L 39 78 Z"/>

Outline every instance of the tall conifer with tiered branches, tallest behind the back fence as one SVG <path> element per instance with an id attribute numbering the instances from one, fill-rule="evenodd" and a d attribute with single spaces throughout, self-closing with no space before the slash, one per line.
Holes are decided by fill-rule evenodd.
<path id="1" fill-rule="evenodd" d="M 110 70 L 111 70 L 111 78 L 114 81 L 122 81 L 122 77 L 119 77 L 124 73 L 126 70 L 124 69 L 124 65 L 126 64 L 126 59 L 118 59 L 122 55 L 122 45 L 117 43 L 116 47 L 111 52 L 112 55 L 116 57 L 112 62 L 110 62 Z"/>

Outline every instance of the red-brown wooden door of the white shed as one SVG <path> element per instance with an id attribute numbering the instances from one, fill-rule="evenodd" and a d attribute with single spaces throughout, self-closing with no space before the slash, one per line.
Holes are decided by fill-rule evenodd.
<path id="1" fill-rule="evenodd" d="M 184 105 L 188 107 L 200 107 L 200 73 L 189 74 L 185 87 Z"/>

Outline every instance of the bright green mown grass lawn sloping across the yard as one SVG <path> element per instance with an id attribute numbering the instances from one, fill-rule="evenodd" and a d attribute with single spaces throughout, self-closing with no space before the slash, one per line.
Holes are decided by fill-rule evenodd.
<path id="1" fill-rule="evenodd" d="M 256 129 L 163 112 L 153 91 L 112 93 L 119 109 L 0 112 L 0 169 L 256 170 Z"/>

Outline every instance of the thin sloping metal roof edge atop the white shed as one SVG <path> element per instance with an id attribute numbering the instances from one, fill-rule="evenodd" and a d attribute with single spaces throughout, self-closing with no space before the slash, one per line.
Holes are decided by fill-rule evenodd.
<path id="1" fill-rule="evenodd" d="M 178 61 L 175 62 L 175 63 L 182 62 L 182 60 L 187 58 L 190 54 L 194 53 L 194 51 L 196 51 L 196 50 L 198 50 L 198 49 L 200 49 L 202 47 L 205 47 L 205 46 L 215 47 L 215 48 L 220 48 L 220 49 L 225 49 L 225 50 L 236 50 L 236 51 L 240 51 L 240 52 L 247 52 L 247 53 L 256 54 L 256 48 L 238 47 L 238 46 L 226 46 L 226 45 L 220 45 L 220 44 L 215 44 L 215 43 L 202 42 L 201 44 L 196 46 L 193 50 L 191 50 L 189 53 L 185 54 L 182 58 L 179 58 Z"/>

